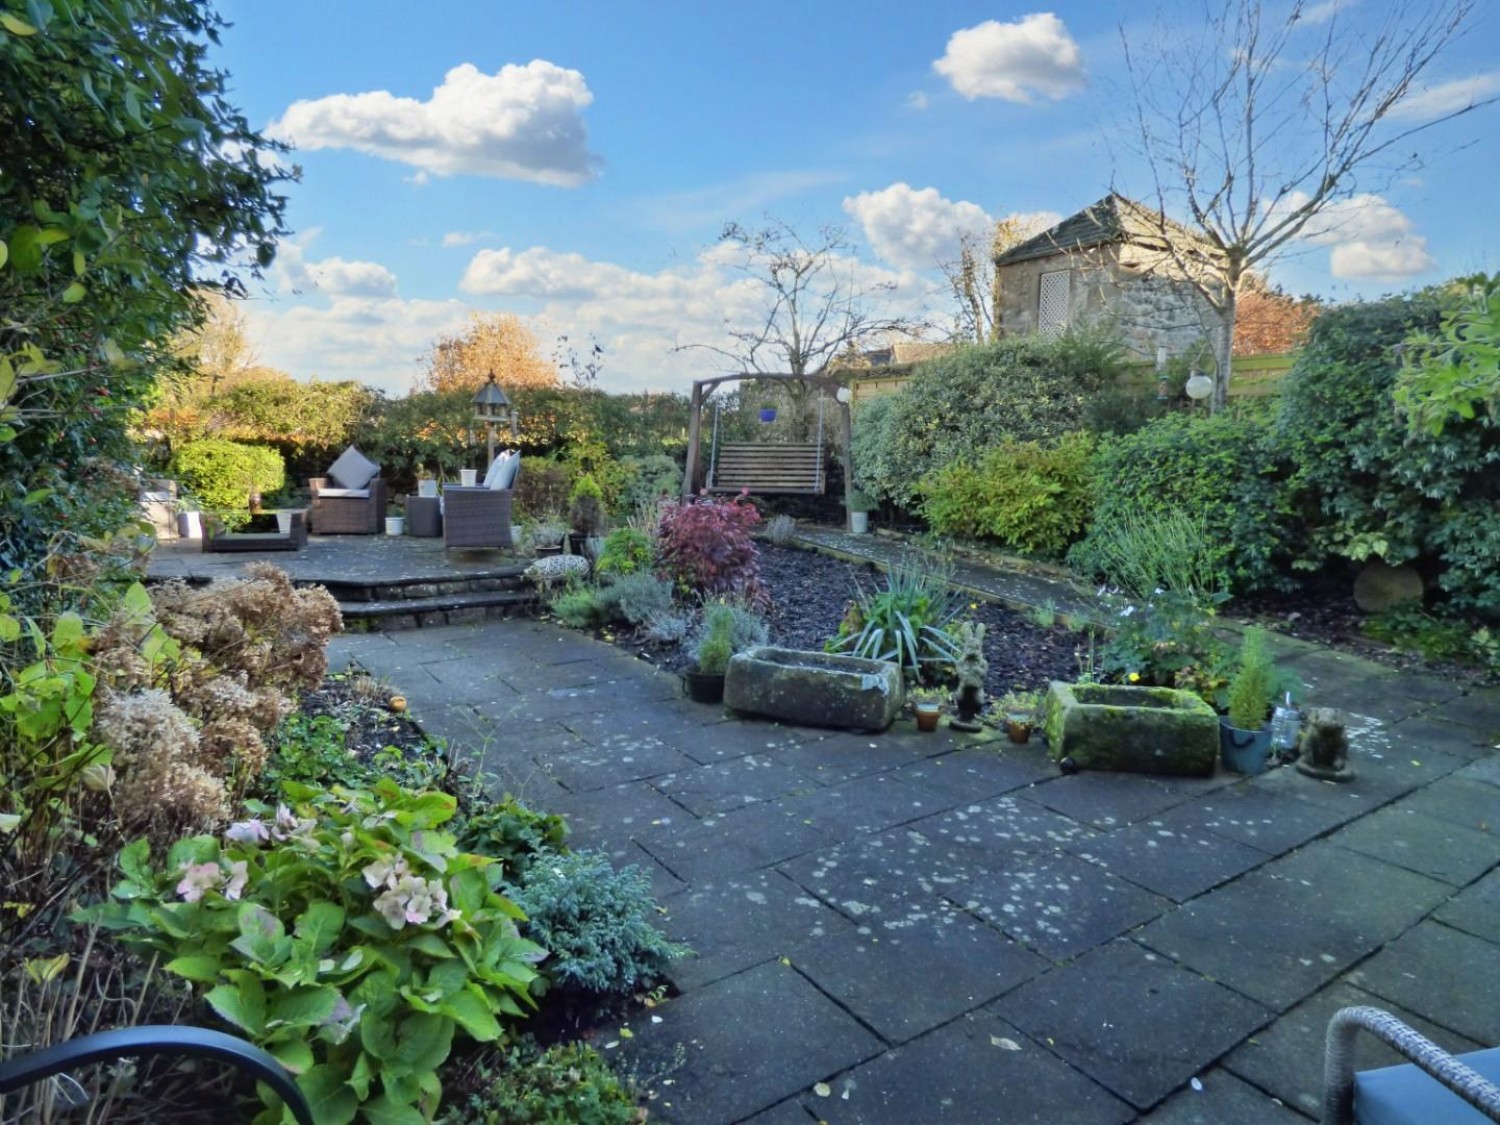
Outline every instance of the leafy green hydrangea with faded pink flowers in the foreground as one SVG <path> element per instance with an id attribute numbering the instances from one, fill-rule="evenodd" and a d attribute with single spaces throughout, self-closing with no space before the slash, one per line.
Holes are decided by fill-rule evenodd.
<path id="1" fill-rule="evenodd" d="M 78 916 L 159 954 L 296 1074 L 324 1125 L 430 1120 L 454 1035 L 490 1042 L 524 1017 L 544 950 L 520 936 L 501 866 L 442 831 L 452 796 L 388 780 L 296 792 L 160 866 L 129 844 L 112 902 Z"/>

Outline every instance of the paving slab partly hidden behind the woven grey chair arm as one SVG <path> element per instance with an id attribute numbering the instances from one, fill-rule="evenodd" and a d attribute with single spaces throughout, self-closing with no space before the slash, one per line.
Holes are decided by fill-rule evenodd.
<path id="1" fill-rule="evenodd" d="M 1473 1050 L 1472 1040 L 1424 1020 L 1390 1000 L 1335 981 L 1294 1006 L 1269 1028 L 1256 1032 L 1224 1059 L 1224 1066 L 1287 1106 L 1312 1118 L 1323 1106 L 1323 1054 L 1328 1022 L 1340 1008 L 1370 1005 L 1389 1011 L 1449 1052 Z M 1374 1035 L 1354 1040 L 1354 1070 L 1394 1066 L 1406 1062 Z"/>

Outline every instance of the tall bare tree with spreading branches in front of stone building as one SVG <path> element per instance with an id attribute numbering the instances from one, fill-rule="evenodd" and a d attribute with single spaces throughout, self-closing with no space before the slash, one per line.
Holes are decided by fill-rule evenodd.
<path id="1" fill-rule="evenodd" d="M 1132 50 L 1120 30 L 1136 141 L 1155 180 L 1158 268 L 1191 279 L 1224 324 L 1214 410 L 1227 400 L 1250 272 L 1299 236 L 1329 232 L 1370 180 L 1383 188 L 1420 166 L 1414 136 L 1496 100 L 1418 99 L 1474 0 L 1384 0 L 1360 8 L 1362 24 L 1338 3 L 1296 0 L 1284 16 L 1262 0 L 1216 4 L 1198 42 L 1178 30 Z M 1191 219 L 1191 234 L 1168 212 Z"/>

